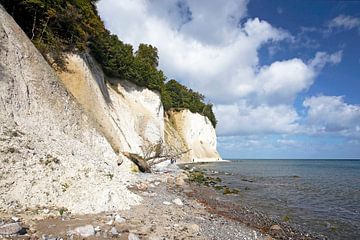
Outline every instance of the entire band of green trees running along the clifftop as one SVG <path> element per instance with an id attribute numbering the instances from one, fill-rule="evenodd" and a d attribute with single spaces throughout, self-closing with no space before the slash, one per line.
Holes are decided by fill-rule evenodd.
<path id="1" fill-rule="evenodd" d="M 65 69 L 64 53 L 90 53 L 111 77 L 128 80 L 156 90 L 165 110 L 187 108 L 207 116 L 213 126 L 216 118 L 204 96 L 176 80 L 166 82 L 158 70 L 156 47 L 140 44 L 134 53 L 130 44 L 110 34 L 101 21 L 96 0 L 0 0 L 46 60 Z"/>

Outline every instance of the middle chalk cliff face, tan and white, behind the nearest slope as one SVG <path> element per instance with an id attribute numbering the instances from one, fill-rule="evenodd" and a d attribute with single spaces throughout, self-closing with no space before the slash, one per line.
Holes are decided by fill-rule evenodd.
<path id="1" fill-rule="evenodd" d="M 146 142 L 164 140 L 164 111 L 158 93 L 107 78 L 88 54 L 68 55 L 59 77 L 117 152 L 142 154 Z"/>

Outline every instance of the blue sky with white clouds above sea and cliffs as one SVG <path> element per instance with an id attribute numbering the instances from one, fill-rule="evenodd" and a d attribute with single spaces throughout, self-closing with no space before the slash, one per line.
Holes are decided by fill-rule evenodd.
<path id="1" fill-rule="evenodd" d="M 227 158 L 360 158 L 360 1 L 101 0 L 106 27 L 214 104 Z"/>

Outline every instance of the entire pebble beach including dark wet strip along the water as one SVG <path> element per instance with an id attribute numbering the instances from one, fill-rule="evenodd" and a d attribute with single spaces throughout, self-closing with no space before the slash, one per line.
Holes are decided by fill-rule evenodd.
<path id="1" fill-rule="evenodd" d="M 92 228 L 86 239 L 326 239 L 301 232 L 246 206 L 220 201 L 211 187 L 188 182 L 186 172 L 174 169 L 138 174 L 128 188 L 143 201 L 129 210 L 73 215 L 44 209 L 4 215 L 19 218 L 26 235 L 11 239 L 83 239 L 76 230 Z M 120 219 L 120 220 L 119 220 Z M 1 238 L 1 235 L 0 235 Z"/>

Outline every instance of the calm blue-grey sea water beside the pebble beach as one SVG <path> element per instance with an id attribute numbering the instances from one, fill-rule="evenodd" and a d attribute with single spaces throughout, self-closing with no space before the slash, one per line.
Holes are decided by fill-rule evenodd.
<path id="1" fill-rule="evenodd" d="M 207 163 L 239 204 L 330 239 L 360 239 L 360 160 L 232 160 Z"/>

